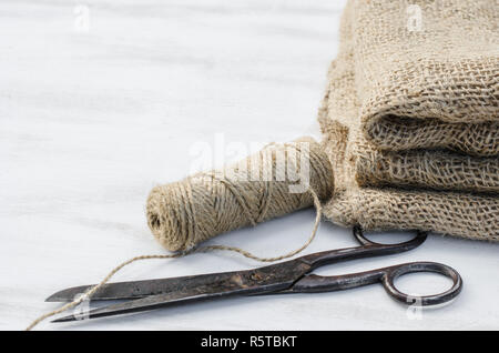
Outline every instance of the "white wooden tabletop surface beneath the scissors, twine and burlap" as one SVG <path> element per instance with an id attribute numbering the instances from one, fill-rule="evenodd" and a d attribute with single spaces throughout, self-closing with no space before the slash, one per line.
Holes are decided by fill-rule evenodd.
<path id="1" fill-rule="evenodd" d="M 196 148 L 287 141 L 314 131 L 345 1 L 105 0 L 0 2 L 0 329 L 58 306 L 62 288 L 164 253 L 144 216 L 150 189 L 185 176 Z M 220 151 L 218 151 L 220 152 Z M 215 152 L 214 152 L 215 153 Z M 233 155 L 234 158 L 234 155 Z M 217 238 L 261 255 L 308 236 L 314 211 Z M 324 222 L 307 253 L 350 246 Z M 43 330 L 498 329 L 499 246 L 432 235 L 415 251 L 355 261 L 347 273 L 406 261 L 455 266 L 452 305 L 415 314 L 380 285 L 232 299 Z M 133 264 L 115 280 L 259 265 L 231 253 Z M 430 293 L 439 276 L 400 280 Z"/>

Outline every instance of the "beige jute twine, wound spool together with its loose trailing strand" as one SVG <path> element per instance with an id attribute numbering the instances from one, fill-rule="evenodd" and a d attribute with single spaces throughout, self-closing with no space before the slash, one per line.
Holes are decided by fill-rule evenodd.
<path id="1" fill-rule="evenodd" d="M 302 157 L 305 154 L 306 158 L 296 158 L 296 154 Z M 296 183 L 304 180 L 289 179 L 289 163 L 295 164 L 295 171 L 309 168 L 309 173 L 302 175 L 307 179 L 304 192 L 291 192 L 289 186 L 297 186 Z M 242 165 L 246 165 L 247 171 L 256 170 L 259 179 L 233 178 L 234 171 L 240 172 L 241 176 L 241 172 L 245 170 Z M 232 176 L 228 178 L 228 174 Z M 286 175 L 285 180 L 282 180 L 282 175 Z M 174 252 L 140 255 L 121 263 L 99 284 L 74 301 L 34 320 L 27 331 L 48 317 L 91 300 L 116 272 L 140 260 L 174 259 L 214 250 L 236 252 L 258 262 L 274 262 L 294 256 L 314 240 L 323 214 L 320 200 L 329 196 L 333 183 L 332 168 L 323 147 L 305 138 L 293 143 L 271 144 L 255 155 L 222 171 L 201 173 L 181 182 L 157 186 L 147 200 L 147 222 L 160 243 Z M 218 244 L 197 246 L 220 233 L 249 224 L 255 225 L 312 204 L 316 209 L 316 216 L 310 235 L 301 248 L 283 255 L 263 258 L 241 248 Z"/>

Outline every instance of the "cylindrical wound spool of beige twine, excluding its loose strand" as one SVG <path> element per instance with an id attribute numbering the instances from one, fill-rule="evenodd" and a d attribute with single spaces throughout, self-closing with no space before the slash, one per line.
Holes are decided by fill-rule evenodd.
<path id="1" fill-rule="evenodd" d="M 281 216 L 333 192 L 329 159 L 312 138 L 269 144 L 222 170 L 155 186 L 147 224 L 170 251 L 189 251 L 221 233 Z"/>

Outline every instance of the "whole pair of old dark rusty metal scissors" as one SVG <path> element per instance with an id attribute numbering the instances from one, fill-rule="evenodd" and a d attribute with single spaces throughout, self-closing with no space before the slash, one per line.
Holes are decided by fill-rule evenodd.
<path id="1" fill-rule="evenodd" d="M 57 319 L 67 322 L 103 317 L 198 301 L 237 295 L 333 292 L 383 283 L 386 292 L 407 305 L 436 305 L 455 299 L 462 289 L 462 280 L 452 268 L 436 262 L 409 262 L 359 273 L 323 276 L 312 273 L 315 269 L 344 261 L 383 256 L 409 251 L 422 244 L 426 232 L 417 231 L 409 241 L 380 244 L 364 236 L 360 226 L 353 228 L 359 246 L 317 252 L 294 260 L 246 271 L 210 273 L 170 279 L 115 282 L 105 284 L 92 296 L 92 301 L 129 300 L 123 303 L 98 307 Z M 450 278 L 452 286 L 439 294 L 409 295 L 400 292 L 394 282 L 400 275 L 414 272 L 435 272 Z M 48 302 L 69 302 L 93 285 L 62 290 L 49 296 Z"/>

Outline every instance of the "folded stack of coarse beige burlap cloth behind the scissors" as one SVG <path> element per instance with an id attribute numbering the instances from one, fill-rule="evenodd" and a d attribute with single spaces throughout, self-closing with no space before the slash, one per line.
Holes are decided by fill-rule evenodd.
<path id="1" fill-rule="evenodd" d="M 347 3 L 318 117 L 326 216 L 499 240 L 498 23 L 496 0 Z"/>

